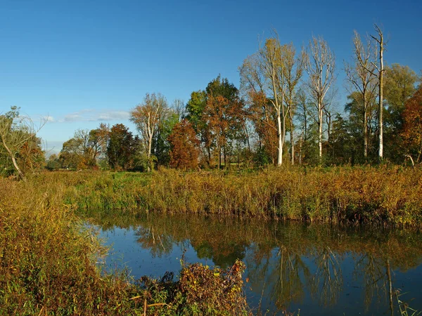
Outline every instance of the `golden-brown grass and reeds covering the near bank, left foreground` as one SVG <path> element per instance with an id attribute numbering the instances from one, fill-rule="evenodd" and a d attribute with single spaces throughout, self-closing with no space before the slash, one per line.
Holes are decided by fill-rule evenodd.
<path id="1" fill-rule="evenodd" d="M 105 249 L 63 204 L 66 186 L 83 178 L 60 177 L 60 185 L 54 177 L 0 180 L 0 315 L 248 314 L 242 263 L 228 271 L 184 265 L 177 282 L 134 283 L 124 271 L 99 270 Z"/>

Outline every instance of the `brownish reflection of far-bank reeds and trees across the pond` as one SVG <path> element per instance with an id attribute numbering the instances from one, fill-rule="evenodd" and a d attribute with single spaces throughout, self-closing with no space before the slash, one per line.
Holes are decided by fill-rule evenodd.
<path id="1" fill-rule="evenodd" d="M 390 301 L 391 306 L 392 271 L 414 268 L 422 261 L 421 235 L 406 230 L 271 221 L 262 225 L 259 220 L 159 214 L 125 220 L 106 218 L 102 223 L 104 229 L 112 223 L 136 227 L 139 244 L 153 256 L 170 253 L 174 245 L 191 244 L 198 258 L 210 258 L 222 267 L 236 258 L 244 259 L 250 279 L 247 287 L 281 310 L 290 303 L 300 303 L 307 293 L 324 305 L 338 301 L 343 287 L 343 254 L 355 258 L 354 276 L 362 280 L 367 306 L 375 295 Z"/>

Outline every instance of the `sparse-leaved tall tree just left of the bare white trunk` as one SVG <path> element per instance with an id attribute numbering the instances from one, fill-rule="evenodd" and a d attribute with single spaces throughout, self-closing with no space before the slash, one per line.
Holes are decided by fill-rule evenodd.
<path id="1" fill-rule="evenodd" d="M 345 72 L 347 81 L 351 84 L 354 91 L 359 93 L 359 100 L 355 100 L 362 113 L 362 130 L 364 132 L 364 158 L 368 157 L 368 139 L 369 126 L 368 119 L 372 100 L 376 97 L 376 87 L 378 86 L 378 78 L 374 74 L 376 67 L 374 61 L 376 59 L 376 51 L 369 39 L 366 39 L 366 46 L 362 44 L 359 34 L 354 31 L 353 37 L 353 64 L 345 63 Z M 353 91 L 350 91 L 353 93 Z M 362 105 L 360 107 L 359 105 Z"/>

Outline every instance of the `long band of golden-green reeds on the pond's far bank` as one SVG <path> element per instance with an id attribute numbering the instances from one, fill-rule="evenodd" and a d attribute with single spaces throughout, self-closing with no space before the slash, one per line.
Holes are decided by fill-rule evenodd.
<path id="1" fill-rule="evenodd" d="M 247 218 L 422 225 L 422 170 L 397 166 L 250 172 L 45 173 L 83 211 L 198 213 Z M 56 190 L 56 189 L 55 189 Z M 55 193 L 53 192 L 53 195 Z"/>

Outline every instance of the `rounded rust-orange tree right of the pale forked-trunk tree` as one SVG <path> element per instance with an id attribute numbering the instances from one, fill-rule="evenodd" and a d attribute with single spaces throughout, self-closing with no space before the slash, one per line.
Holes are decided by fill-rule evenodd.
<path id="1" fill-rule="evenodd" d="M 197 168 L 200 142 L 189 121 L 182 119 L 174 126 L 169 142 L 170 166 L 177 169 Z"/>

